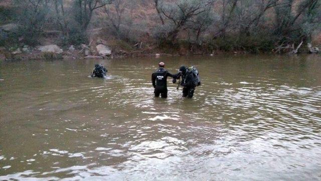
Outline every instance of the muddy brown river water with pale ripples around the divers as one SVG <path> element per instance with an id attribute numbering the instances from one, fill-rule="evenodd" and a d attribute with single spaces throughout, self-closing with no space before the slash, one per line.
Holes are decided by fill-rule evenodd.
<path id="1" fill-rule="evenodd" d="M 198 67 L 193 99 L 153 98 L 158 61 Z M 321 179 L 321 56 L 0 66 L 0 180 Z"/>

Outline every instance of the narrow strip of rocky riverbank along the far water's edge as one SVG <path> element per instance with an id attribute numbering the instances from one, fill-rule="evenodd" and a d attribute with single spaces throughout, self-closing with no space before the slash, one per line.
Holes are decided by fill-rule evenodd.
<path id="1" fill-rule="evenodd" d="M 108 44 L 108 45 L 106 45 Z M 140 46 L 140 47 L 139 47 Z M 89 45 L 81 44 L 79 46 L 70 45 L 67 47 L 60 47 L 55 44 L 37 46 L 37 47 L 16 47 L 11 49 L 0 48 L 0 59 L 1 60 L 38 60 L 38 59 L 114 59 L 124 57 L 172 57 L 172 56 L 190 56 L 190 55 L 202 55 L 202 56 L 217 56 L 217 55 L 236 55 L 236 54 L 275 54 L 280 55 L 281 53 L 273 52 L 261 52 L 251 53 L 248 51 L 189 51 L 186 47 L 180 48 L 159 48 L 156 46 L 145 46 L 134 45 L 134 48 L 124 45 L 124 42 L 107 43 L 103 40 L 91 41 Z M 302 54 L 318 53 L 310 52 L 308 48 L 304 52 L 298 52 Z M 287 53 L 287 54 L 292 54 Z"/>

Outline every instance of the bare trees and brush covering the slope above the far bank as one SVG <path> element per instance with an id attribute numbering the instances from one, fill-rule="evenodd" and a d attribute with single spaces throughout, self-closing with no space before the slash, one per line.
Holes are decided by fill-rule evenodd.
<path id="1" fill-rule="evenodd" d="M 319 0 L 14 0 L 0 3 L 0 47 L 296 53 L 320 45 L 320 22 Z"/>

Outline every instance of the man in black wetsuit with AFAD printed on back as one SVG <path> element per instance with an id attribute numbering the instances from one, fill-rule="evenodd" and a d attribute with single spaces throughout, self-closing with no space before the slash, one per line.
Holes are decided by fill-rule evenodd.
<path id="1" fill-rule="evenodd" d="M 151 74 L 151 82 L 154 87 L 155 97 L 162 96 L 162 98 L 167 98 L 167 77 L 173 77 L 173 75 L 165 69 L 165 63 L 159 62 L 158 69 Z"/>

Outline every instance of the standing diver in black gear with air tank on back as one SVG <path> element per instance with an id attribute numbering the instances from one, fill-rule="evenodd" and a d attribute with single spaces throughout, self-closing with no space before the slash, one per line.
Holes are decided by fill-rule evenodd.
<path id="1" fill-rule="evenodd" d="M 185 65 L 182 65 L 179 71 L 179 73 L 174 75 L 173 83 L 176 83 L 176 79 L 182 77 L 182 81 L 179 85 L 183 86 L 183 97 L 192 98 L 196 86 L 201 85 L 199 71 L 194 66 L 186 67 Z"/>

